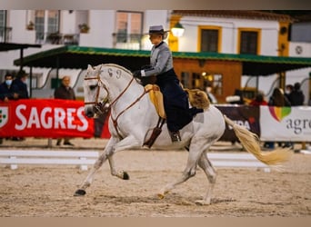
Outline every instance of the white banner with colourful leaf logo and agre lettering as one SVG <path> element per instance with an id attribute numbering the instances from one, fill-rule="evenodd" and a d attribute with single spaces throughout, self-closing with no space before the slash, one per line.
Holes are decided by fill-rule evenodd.
<path id="1" fill-rule="evenodd" d="M 311 141 L 311 107 L 260 107 L 263 141 Z"/>

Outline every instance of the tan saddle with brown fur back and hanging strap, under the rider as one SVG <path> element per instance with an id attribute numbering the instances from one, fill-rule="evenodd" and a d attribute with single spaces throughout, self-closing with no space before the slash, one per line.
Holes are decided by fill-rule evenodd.
<path id="1" fill-rule="evenodd" d="M 209 100 L 207 94 L 199 89 L 185 89 L 188 94 L 189 103 L 191 106 L 206 110 L 209 107 Z M 151 147 L 157 136 L 162 132 L 162 126 L 166 122 L 166 111 L 163 102 L 163 94 L 160 91 L 160 87 L 156 84 L 146 84 L 145 92 L 149 93 L 149 98 L 152 104 L 156 107 L 156 113 L 159 115 L 156 127 L 154 128 L 150 138 L 145 141 L 143 146 Z"/>

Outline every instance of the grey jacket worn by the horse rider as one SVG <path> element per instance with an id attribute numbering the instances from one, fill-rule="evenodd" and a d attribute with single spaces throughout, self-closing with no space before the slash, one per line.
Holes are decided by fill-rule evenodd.
<path id="1" fill-rule="evenodd" d="M 141 71 L 142 76 L 163 74 L 173 68 L 172 52 L 165 42 L 152 47 L 150 64 L 150 68 Z"/>

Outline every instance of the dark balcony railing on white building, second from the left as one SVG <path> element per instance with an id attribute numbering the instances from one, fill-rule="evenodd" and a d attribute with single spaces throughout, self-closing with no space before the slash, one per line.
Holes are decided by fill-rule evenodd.
<path id="1" fill-rule="evenodd" d="M 80 34 L 36 33 L 36 44 L 79 44 Z"/>

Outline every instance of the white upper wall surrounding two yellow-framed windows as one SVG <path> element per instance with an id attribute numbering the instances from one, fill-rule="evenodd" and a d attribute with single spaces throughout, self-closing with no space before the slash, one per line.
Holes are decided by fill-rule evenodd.
<path id="1" fill-rule="evenodd" d="M 184 16 L 180 24 L 185 34 L 179 38 L 179 51 L 197 52 L 198 26 L 219 26 L 222 28 L 221 53 L 238 54 L 238 28 L 261 29 L 260 53 L 277 55 L 278 23 L 264 20 L 242 20 L 230 18 Z"/>

